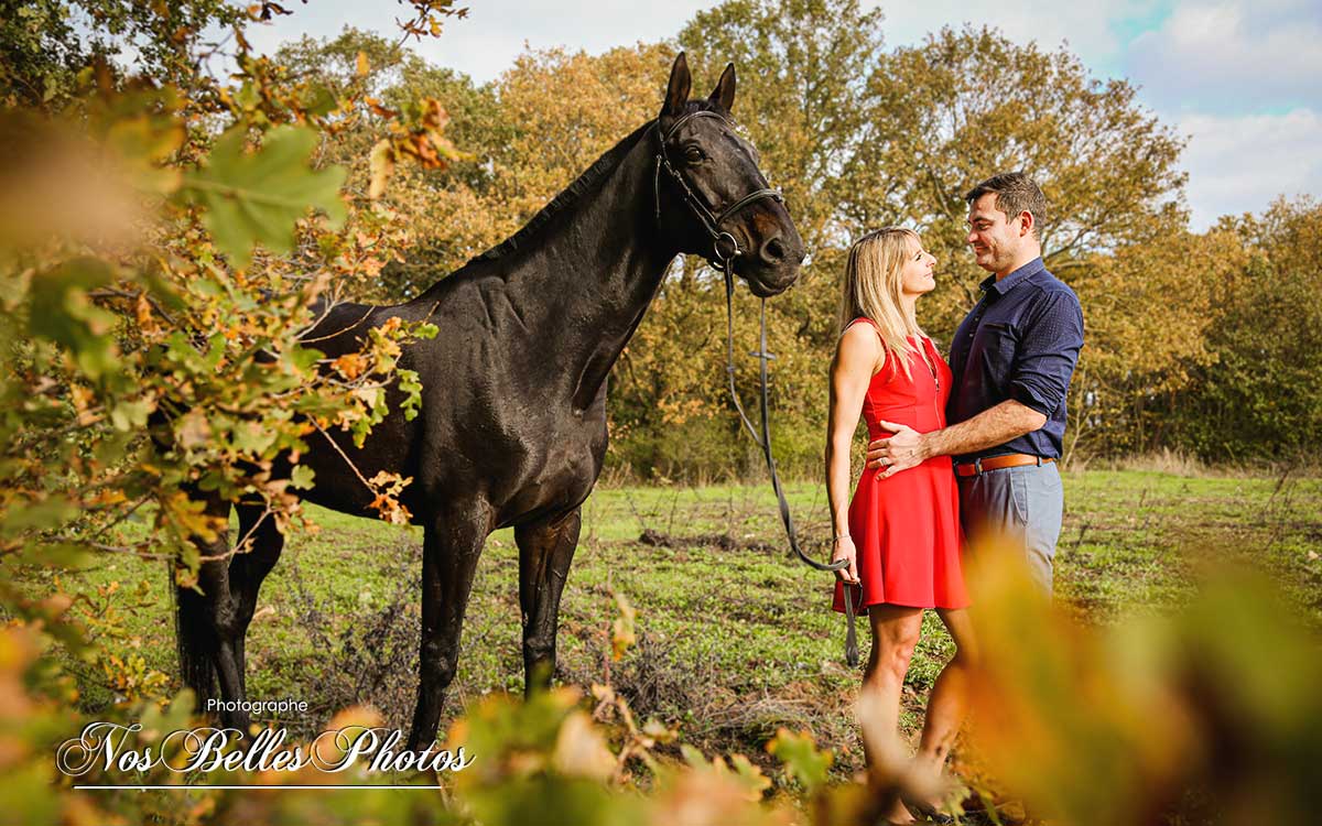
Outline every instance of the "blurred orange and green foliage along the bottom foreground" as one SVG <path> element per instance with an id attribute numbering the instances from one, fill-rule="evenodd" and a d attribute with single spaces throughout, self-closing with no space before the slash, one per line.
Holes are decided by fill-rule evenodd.
<path id="1" fill-rule="evenodd" d="M 973 757 L 945 794 L 961 822 L 1315 822 L 1322 658 L 1317 637 L 1284 613 L 1269 585 L 1223 572 L 1177 616 L 1088 629 L 1046 604 L 1015 558 L 992 548 L 978 560 Z M 627 600 L 617 605 L 616 657 L 635 632 Z M 866 696 L 873 765 L 855 782 L 828 785 L 833 755 L 810 732 L 771 739 L 765 748 L 780 769 L 765 774 L 746 756 L 682 745 L 677 727 L 640 723 L 609 685 L 594 685 L 592 696 L 561 689 L 526 703 L 500 695 L 475 703 L 442 744 L 463 747 L 469 763 L 459 772 L 370 772 L 364 759 L 344 772 L 180 773 L 104 770 L 98 760 L 65 777 L 57 748 L 91 719 L 73 711 L 73 679 L 42 654 L 52 634 L 78 633 L 69 622 L 50 605 L 42 620 L 0 633 L 0 811 L 9 822 L 853 825 L 880 822 L 898 794 L 932 793 L 910 772 L 898 736 L 869 727 Z M 136 743 L 131 736 L 120 749 L 149 748 L 180 765 L 182 743 L 165 735 L 206 724 L 192 712 L 185 691 L 97 719 L 140 723 Z M 350 708 L 327 728 L 352 735 L 379 724 L 373 710 Z M 320 751 L 336 756 L 325 744 Z M 296 790 L 383 784 L 419 788 Z M 287 790 L 209 788 L 221 785 Z"/>

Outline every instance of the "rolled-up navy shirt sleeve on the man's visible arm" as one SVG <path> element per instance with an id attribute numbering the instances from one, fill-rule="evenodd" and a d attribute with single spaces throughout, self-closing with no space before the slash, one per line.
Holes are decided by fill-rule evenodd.
<path id="1" fill-rule="evenodd" d="M 1079 299 L 1069 289 L 1040 296 L 1019 330 L 1010 398 L 1050 418 L 1064 404 L 1080 349 L 1083 308 Z"/>

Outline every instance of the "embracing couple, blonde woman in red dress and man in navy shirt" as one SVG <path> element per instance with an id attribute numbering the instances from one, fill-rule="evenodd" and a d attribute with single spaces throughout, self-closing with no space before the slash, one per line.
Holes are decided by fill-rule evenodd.
<path id="1" fill-rule="evenodd" d="M 968 243 L 990 272 L 949 345 L 947 363 L 919 328 L 917 300 L 936 287 L 936 259 L 916 233 L 882 229 L 849 250 L 841 337 L 830 367 L 826 493 L 834 608 L 866 613 L 873 648 L 863 675 L 879 720 L 894 731 L 900 690 L 935 608 L 956 654 L 932 687 L 919 767 L 941 772 L 968 706 L 977 658 L 962 548 L 995 533 L 1022 544 L 1051 592 L 1064 506 L 1060 474 L 1066 391 L 1083 346 L 1079 299 L 1042 262 L 1046 198 L 1023 173 L 998 174 L 965 196 Z M 847 501 L 850 443 L 867 423 L 867 467 Z M 921 814 L 931 801 L 914 801 Z M 911 822 L 903 805 L 891 822 Z"/>

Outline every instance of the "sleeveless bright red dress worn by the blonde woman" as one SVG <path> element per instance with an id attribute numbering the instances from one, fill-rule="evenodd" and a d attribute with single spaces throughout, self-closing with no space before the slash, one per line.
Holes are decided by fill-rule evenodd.
<path id="1" fill-rule="evenodd" d="M 855 319 L 870 321 L 867 319 Z M 945 402 L 951 395 L 951 367 L 927 338 L 910 342 L 927 350 L 936 378 L 920 353 L 910 356 L 910 377 L 886 363 L 873 375 L 863 396 L 867 440 L 890 436 L 878 420 L 907 424 L 920 433 L 945 427 Z M 936 381 L 940 379 L 940 381 Z M 858 551 L 858 579 L 850 588 L 854 607 L 890 604 L 915 608 L 965 608 L 960 551 L 960 493 L 949 456 L 935 456 L 916 468 L 878 480 L 875 469 L 863 469 L 849 504 L 849 534 Z M 834 609 L 845 611 L 843 585 L 836 583 Z"/>

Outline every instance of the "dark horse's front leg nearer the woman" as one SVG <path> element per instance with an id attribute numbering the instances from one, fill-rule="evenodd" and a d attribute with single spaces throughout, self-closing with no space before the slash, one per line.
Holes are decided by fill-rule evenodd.
<path id="1" fill-rule="evenodd" d="M 578 548 L 579 507 L 514 529 L 524 620 L 524 694 L 549 689 L 555 673 L 561 593 Z"/>

